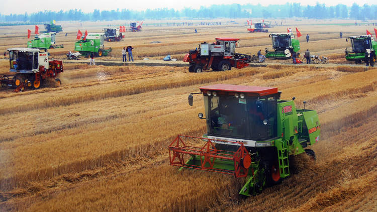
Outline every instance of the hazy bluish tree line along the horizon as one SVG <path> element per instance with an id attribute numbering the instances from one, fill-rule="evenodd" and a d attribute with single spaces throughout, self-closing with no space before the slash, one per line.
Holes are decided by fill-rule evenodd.
<path id="1" fill-rule="evenodd" d="M 117 9 L 111 11 L 94 10 L 92 13 L 84 13 L 81 10 L 69 10 L 58 12 L 43 11 L 32 14 L 0 14 L 1 24 L 21 23 L 46 23 L 56 21 L 112 21 L 112 20 L 161 20 L 161 19 L 214 19 L 214 18 L 309 18 L 309 19 L 353 19 L 374 20 L 377 14 L 377 5 L 351 7 L 338 4 L 327 7 L 317 3 L 315 6 L 302 6 L 300 3 L 287 3 L 285 5 L 212 5 L 200 9 L 184 8 L 174 10 L 167 8 L 146 9 L 135 11 L 129 9 Z"/>

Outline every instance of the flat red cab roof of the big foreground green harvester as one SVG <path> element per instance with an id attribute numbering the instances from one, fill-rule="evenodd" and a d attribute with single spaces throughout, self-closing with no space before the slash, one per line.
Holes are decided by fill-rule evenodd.
<path id="1" fill-rule="evenodd" d="M 200 87 L 200 90 L 222 90 L 232 92 L 243 93 L 257 93 L 260 96 L 277 93 L 277 87 L 259 87 L 259 86 L 247 86 L 247 85 L 228 85 L 228 84 L 216 84 Z"/>

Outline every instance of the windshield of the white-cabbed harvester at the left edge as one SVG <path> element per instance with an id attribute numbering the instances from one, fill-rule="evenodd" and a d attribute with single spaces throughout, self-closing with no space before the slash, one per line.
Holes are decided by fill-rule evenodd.
<path id="1" fill-rule="evenodd" d="M 9 53 L 11 69 L 32 70 L 33 69 L 33 52 L 13 52 Z"/>

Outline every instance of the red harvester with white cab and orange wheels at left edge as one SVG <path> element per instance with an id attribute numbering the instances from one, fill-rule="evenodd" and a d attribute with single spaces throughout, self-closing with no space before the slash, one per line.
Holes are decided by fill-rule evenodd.
<path id="1" fill-rule="evenodd" d="M 24 91 L 29 87 L 38 89 L 44 85 L 45 79 L 56 78 L 63 71 L 61 60 L 48 60 L 47 51 L 35 48 L 11 48 L 9 51 L 10 71 L 15 75 L 3 75 L 0 78 L 2 87 L 15 88 L 16 92 Z"/>

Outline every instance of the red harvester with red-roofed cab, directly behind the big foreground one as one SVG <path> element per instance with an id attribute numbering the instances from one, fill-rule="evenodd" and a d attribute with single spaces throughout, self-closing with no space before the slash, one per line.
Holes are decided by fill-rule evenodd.
<path id="1" fill-rule="evenodd" d="M 190 50 L 183 57 L 189 62 L 190 72 L 202 72 L 212 68 L 214 71 L 231 70 L 232 67 L 244 68 L 251 61 L 250 55 L 236 53 L 238 38 L 216 38 L 216 42 L 201 43 L 199 49 Z"/>

